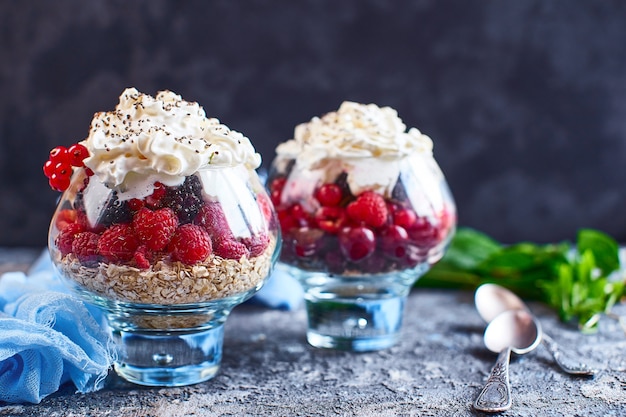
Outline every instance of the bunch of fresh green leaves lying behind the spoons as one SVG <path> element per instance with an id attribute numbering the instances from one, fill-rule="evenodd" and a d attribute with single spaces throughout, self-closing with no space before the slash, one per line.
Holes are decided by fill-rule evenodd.
<path id="1" fill-rule="evenodd" d="M 416 286 L 475 289 L 487 282 L 502 285 L 525 299 L 553 307 L 564 322 L 597 329 L 599 317 L 625 295 L 619 245 L 610 236 L 582 229 L 576 245 L 521 242 L 502 245 L 484 233 L 460 228 L 444 257 Z"/>

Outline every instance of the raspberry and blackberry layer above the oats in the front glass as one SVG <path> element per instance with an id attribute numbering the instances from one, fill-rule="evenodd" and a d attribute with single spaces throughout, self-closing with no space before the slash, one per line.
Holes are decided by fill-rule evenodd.
<path id="1" fill-rule="evenodd" d="M 270 243 L 265 232 L 235 236 L 222 205 L 204 199 L 196 176 L 176 187 L 155 183 L 154 192 L 144 199 L 120 201 L 112 191 L 98 219 L 90 222 L 83 201 L 90 178 L 85 176 L 73 203 L 55 217 L 59 232 L 54 246 L 62 256 L 74 254 L 85 266 L 106 262 L 148 269 L 162 259 L 194 265 L 211 254 L 239 260 L 259 256 Z M 269 222 L 271 205 L 263 195 L 257 198 Z"/>

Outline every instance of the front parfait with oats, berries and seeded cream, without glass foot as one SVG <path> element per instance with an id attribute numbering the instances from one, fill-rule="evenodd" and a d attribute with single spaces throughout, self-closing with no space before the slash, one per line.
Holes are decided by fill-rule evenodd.
<path id="1" fill-rule="evenodd" d="M 126 89 L 89 136 L 44 166 L 64 191 L 49 247 L 80 290 L 181 305 L 250 294 L 277 253 L 278 226 L 243 134 L 171 91 Z M 244 296 L 241 296 L 244 297 Z"/>

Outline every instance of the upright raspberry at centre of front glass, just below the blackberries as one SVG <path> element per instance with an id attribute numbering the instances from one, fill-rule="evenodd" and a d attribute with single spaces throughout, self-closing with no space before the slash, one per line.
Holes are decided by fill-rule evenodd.
<path id="1" fill-rule="evenodd" d="M 164 249 L 174 236 L 178 218 L 170 208 L 152 211 L 144 207 L 135 214 L 132 225 L 135 235 L 142 244 L 148 249 L 159 251 Z"/>

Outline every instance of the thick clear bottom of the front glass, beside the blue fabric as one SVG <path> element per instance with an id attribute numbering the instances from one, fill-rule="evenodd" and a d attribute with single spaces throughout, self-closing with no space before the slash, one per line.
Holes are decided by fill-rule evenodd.
<path id="1" fill-rule="evenodd" d="M 176 387 L 213 378 L 220 368 L 224 326 L 197 332 L 113 330 L 115 371 L 129 382 Z"/>

